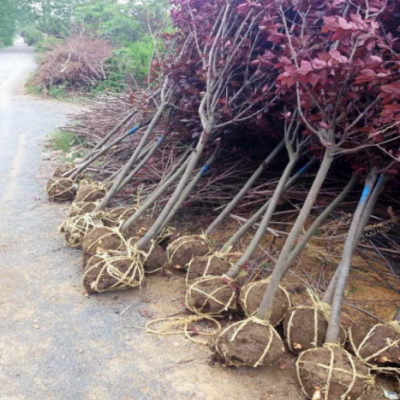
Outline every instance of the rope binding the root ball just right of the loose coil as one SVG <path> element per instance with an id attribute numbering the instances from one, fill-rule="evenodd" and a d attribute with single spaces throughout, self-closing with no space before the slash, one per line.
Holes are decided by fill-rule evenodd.
<path id="1" fill-rule="evenodd" d="M 233 334 L 228 338 L 227 341 L 229 343 L 234 343 L 235 340 L 238 338 L 238 336 L 243 333 L 243 331 L 246 329 L 246 327 L 250 327 L 251 325 L 255 325 L 255 326 L 258 325 L 258 326 L 267 328 L 268 334 L 265 334 L 265 332 L 263 332 L 262 337 L 266 338 L 268 336 L 268 339 L 267 339 L 267 342 L 265 343 L 264 349 L 261 351 L 261 354 L 256 358 L 256 361 L 253 360 L 254 362 L 247 363 L 247 362 L 240 361 L 238 359 L 237 355 L 234 354 L 234 352 L 229 352 L 228 351 L 229 347 L 225 347 L 225 349 L 221 348 L 221 344 L 223 344 L 222 338 L 225 335 L 229 336 L 229 333 L 230 333 L 229 331 L 233 331 Z M 253 335 L 249 335 L 249 337 L 247 339 L 252 340 Z M 273 346 L 273 344 L 274 344 L 274 346 Z M 267 357 L 268 353 L 270 352 L 270 350 L 272 350 L 272 349 L 277 350 L 277 345 L 280 346 L 280 349 L 279 349 L 279 351 L 277 351 L 277 354 L 274 355 L 272 360 L 266 360 L 266 357 Z M 234 346 L 233 349 L 237 348 L 238 346 L 240 347 L 240 343 L 237 344 L 236 346 Z M 276 332 L 275 328 L 270 323 L 268 323 L 267 321 L 262 320 L 260 318 L 257 318 L 256 316 L 252 316 L 243 321 L 239 321 L 232 325 L 227 326 L 218 335 L 218 338 L 215 341 L 215 350 L 221 357 L 223 357 L 223 359 L 225 360 L 225 362 L 227 362 L 228 365 L 232 365 L 235 367 L 250 366 L 253 368 L 257 368 L 261 365 L 266 365 L 271 362 L 277 361 L 275 359 L 275 356 L 279 356 L 279 354 L 284 353 L 284 346 L 283 346 L 281 337 L 279 336 L 279 334 Z"/>

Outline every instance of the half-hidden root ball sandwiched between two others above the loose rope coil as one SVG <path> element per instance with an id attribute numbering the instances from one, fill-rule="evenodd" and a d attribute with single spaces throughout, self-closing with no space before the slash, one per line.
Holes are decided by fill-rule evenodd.
<path id="1" fill-rule="evenodd" d="M 194 257 L 188 265 L 186 283 L 204 276 L 222 276 L 232 266 L 230 261 L 218 254 Z"/>

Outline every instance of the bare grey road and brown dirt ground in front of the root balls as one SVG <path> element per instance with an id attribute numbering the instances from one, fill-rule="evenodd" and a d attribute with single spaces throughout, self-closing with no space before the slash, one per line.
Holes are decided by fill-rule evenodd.
<path id="1" fill-rule="evenodd" d="M 24 95 L 32 68 L 25 46 L 0 52 L 0 399 L 304 399 L 290 355 L 269 368 L 210 366 L 207 346 L 145 332 L 154 318 L 185 313 L 182 274 L 151 276 L 140 290 L 84 295 L 82 254 L 57 231 L 68 204 L 50 204 L 43 190 L 55 166 L 45 135 L 73 109 Z M 311 273 L 311 262 L 303 264 Z M 298 285 L 298 276 L 288 279 Z M 394 298 L 369 287 L 352 294 L 361 302 Z M 371 307 L 381 318 L 391 313 Z M 377 383 L 365 400 L 383 399 L 381 385 L 398 390 L 395 380 Z"/>

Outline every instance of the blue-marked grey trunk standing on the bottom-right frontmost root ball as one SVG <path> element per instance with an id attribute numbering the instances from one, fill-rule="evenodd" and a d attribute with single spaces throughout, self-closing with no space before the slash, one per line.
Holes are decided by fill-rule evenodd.
<path id="1" fill-rule="evenodd" d="M 335 286 L 335 294 L 333 296 L 325 343 L 337 343 L 339 339 L 342 301 L 346 289 L 347 279 L 350 273 L 351 259 L 354 254 L 354 248 L 357 241 L 357 231 L 360 221 L 363 219 L 364 212 L 368 211 L 369 213 L 371 213 L 371 210 L 366 210 L 366 204 L 371 195 L 371 190 L 375 181 L 376 174 L 371 173 L 365 181 L 364 191 L 361 195 L 360 201 L 358 203 L 357 209 L 354 213 L 354 217 L 350 225 L 350 229 L 347 233 L 347 239 L 344 245 L 342 259 L 339 264 L 340 272 Z"/>

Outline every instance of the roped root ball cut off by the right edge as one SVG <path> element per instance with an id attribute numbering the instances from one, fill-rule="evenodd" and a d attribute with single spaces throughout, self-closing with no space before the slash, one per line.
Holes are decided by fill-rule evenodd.
<path id="1" fill-rule="evenodd" d="M 400 325 L 357 324 L 349 330 L 354 354 L 369 367 L 383 373 L 400 373 Z"/>

